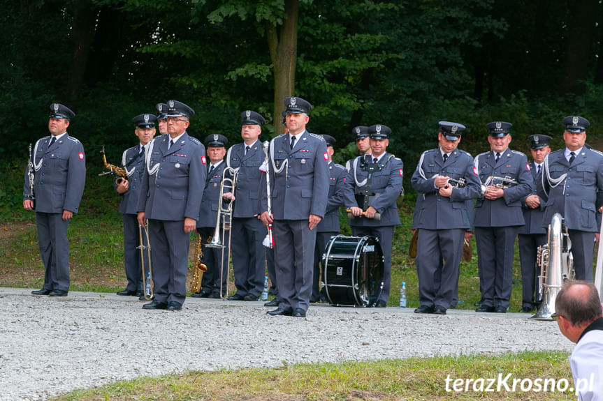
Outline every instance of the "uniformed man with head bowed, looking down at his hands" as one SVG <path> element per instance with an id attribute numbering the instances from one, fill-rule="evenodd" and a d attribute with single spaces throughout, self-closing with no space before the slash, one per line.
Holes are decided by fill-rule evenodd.
<path id="1" fill-rule="evenodd" d="M 415 313 L 446 315 L 455 301 L 465 232 L 471 228 L 472 211 L 467 207 L 473 205 L 467 201 L 481 194 L 472 156 L 457 149 L 463 130 L 462 124 L 439 121 L 439 147 L 423 152 L 412 174 L 418 206 L 413 227 L 419 229 L 415 262 L 421 303 Z"/>

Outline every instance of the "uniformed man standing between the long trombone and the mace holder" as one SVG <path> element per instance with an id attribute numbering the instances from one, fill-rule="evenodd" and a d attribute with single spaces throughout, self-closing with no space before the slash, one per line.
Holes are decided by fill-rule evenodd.
<path id="1" fill-rule="evenodd" d="M 266 121 L 259 113 L 246 110 L 241 113 L 241 137 L 243 142 L 228 149 L 226 165 L 237 170 L 233 199 L 232 252 L 233 271 L 237 291 L 231 301 L 257 301 L 261 295 L 266 271 L 266 250 L 262 241 L 266 227 L 258 220 L 258 195 L 261 171 L 265 155 L 259 136 Z"/>

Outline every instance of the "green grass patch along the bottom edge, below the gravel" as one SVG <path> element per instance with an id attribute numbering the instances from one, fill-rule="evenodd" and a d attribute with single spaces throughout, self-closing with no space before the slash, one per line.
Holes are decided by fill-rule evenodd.
<path id="1" fill-rule="evenodd" d="M 119 381 L 73 391 L 56 400 L 572 400 L 574 394 L 569 391 L 524 392 L 519 384 L 512 391 L 514 378 L 567 379 L 572 386 L 567 355 L 560 351 L 522 352 L 189 372 Z M 511 374 L 507 381 L 511 391 L 502 386 L 500 392 L 446 392 L 447 377 L 489 379 L 499 374 L 503 378 Z"/>

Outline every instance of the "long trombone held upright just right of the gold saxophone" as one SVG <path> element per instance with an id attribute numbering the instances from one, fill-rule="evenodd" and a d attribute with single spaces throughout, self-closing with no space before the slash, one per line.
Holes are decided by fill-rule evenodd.
<path id="1" fill-rule="evenodd" d="M 220 297 L 222 296 L 222 280 L 224 278 L 224 267 L 226 267 L 226 297 L 228 296 L 228 285 L 230 284 L 230 275 L 228 274 L 230 262 L 231 262 L 231 222 L 233 219 L 233 202 L 224 202 L 224 193 L 230 192 L 233 197 L 235 195 L 235 186 L 237 182 L 238 169 L 232 167 L 224 167 L 222 172 L 222 181 L 220 182 L 220 195 L 218 204 L 218 215 L 216 218 L 216 228 L 212 240 L 205 244 L 208 248 L 220 248 L 222 250 L 220 256 Z M 222 225 L 222 236 L 220 237 L 220 220 Z M 228 231 L 228 242 L 224 245 L 226 240 L 226 232 Z M 226 266 L 224 266 L 224 248 L 228 246 L 228 256 L 226 258 Z"/>

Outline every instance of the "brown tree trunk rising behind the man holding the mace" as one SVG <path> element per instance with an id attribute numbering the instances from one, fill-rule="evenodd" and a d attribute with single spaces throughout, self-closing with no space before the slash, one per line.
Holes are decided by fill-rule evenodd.
<path id="1" fill-rule="evenodd" d="M 299 0 L 285 0 L 285 13 L 286 19 L 281 27 L 276 27 L 270 22 L 266 24 L 266 36 L 275 77 L 273 120 L 276 135 L 284 132 L 281 123 L 283 100 L 293 96 L 295 87 Z"/>

